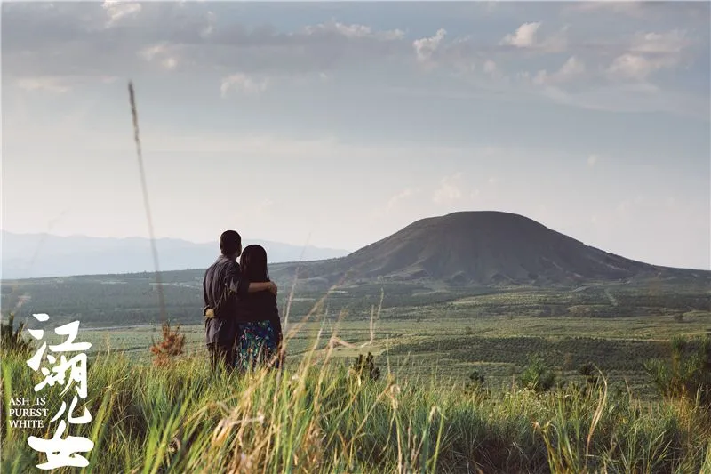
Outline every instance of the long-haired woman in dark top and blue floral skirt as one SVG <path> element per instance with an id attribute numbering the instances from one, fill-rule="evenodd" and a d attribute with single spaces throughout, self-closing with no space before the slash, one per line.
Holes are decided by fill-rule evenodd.
<path id="1" fill-rule="evenodd" d="M 260 245 L 247 245 L 239 266 L 250 283 L 268 282 L 267 252 Z M 236 368 L 254 369 L 258 364 L 282 366 L 282 324 L 276 296 L 271 292 L 248 293 L 237 301 L 237 322 L 241 336 L 236 344 Z"/>

